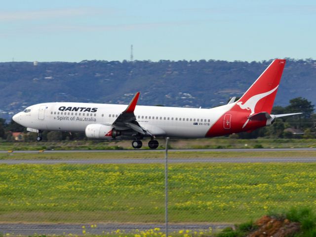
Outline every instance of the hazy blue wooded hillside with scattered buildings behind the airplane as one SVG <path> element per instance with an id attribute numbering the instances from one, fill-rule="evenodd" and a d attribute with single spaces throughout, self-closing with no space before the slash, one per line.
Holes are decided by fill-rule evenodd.
<path id="1" fill-rule="evenodd" d="M 271 61 L 215 60 L 82 61 L 0 63 L 0 118 L 42 102 L 127 104 L 136 91 L 140 105 L 210 108 L 240 96 Z M 316 60 L 288 59 L 275 105 L 301 96 L 316 102 Z"/>

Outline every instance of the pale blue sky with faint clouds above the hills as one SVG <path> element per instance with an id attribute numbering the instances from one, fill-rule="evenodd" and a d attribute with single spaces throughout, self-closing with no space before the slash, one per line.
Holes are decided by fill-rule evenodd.
<path id="1" fill-rule="evenodd" d="M 1 1 L 0 62 L 316 59 L 315 0 Z"/>

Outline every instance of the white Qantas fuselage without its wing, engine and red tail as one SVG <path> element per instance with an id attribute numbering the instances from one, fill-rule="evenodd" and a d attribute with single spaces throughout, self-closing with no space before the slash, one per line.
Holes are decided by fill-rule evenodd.
<path id="1" fill-rule="evenodd" d="M 155 136 L 199 138 L 205 137 L 210 127 L 235 104 L 213 109 L 137 105 L 134 114 L 137 122 Z M 126 106 L 43 103 L 28 107 L 25 110 L 27 112 L 16 114 L 13 120 L 25 127 L 38 130 L 83 132 L 89 124 L 112 124 Z"/>

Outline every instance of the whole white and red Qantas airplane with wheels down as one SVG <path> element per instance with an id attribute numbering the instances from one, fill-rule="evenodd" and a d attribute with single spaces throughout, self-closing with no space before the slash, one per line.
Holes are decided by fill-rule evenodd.
<path id="1" fill-rule="evenodd" d="M 91 103 L 42 103 L 13 116 L 28 131 L 85 132 L 86 137 L 132 139 L 132 147 L 158 148 L 157 137 L 204 138 L 253 131 L 276 118 L 301 113 L 271 115 L 285 59 L 275 59 L 249 89 L 235 101 L 211 109 L 140 106 L 137 92 L 129 105 Z"/>

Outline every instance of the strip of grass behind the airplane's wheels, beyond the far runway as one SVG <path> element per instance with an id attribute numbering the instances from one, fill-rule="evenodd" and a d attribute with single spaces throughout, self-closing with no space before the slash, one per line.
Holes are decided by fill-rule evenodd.
<path id="1" fill-rule="evenodd" d="M 159 141 L 163 149 L 164 140 Z M 143 148 L 148 140 L 143 140 Z M 306 148 L 316 147 L 316 139 L 171 139 L 172 149 L 221 149 L 221 148 Z M 114 141 L 0 141 L 0 150 L 123 150 L 132 149 L 130 140 Z"/>

